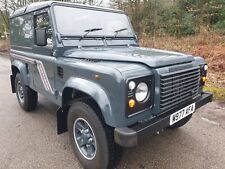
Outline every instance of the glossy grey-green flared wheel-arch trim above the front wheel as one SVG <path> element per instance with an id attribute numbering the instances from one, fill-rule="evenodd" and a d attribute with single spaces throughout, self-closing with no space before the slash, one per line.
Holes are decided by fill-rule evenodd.
<path id="1" fill-rule="evenodd" d="M 67 87 L 89 95 L 98 104 L 106 124 L 111 126 L 115 124 L 110 99 L 99 84 L 87 79 L 71 77 L 65 83 L 64 89 Z"/>

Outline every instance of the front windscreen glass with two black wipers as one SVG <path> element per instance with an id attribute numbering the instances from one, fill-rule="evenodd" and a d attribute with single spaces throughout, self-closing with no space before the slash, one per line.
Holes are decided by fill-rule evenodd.
<path id="1" fill-rule="evenodd" d="M 55 6 L 54 13 L 62 35 L 134 36 L 125 14 L 66 6 Z"/>

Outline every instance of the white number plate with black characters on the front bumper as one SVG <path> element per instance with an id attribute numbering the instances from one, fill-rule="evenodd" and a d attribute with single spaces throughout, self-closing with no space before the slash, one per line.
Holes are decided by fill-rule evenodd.
<path id="1" fill-rule="evenodd" d="M 187 117 L 188 115 L 194 113 L 195 111 L 195 103 L 184 107 L 183 109 L 173 113 L 170 115 L 170 125 L 177 123 L 178 121 L 182 120 L 183 118 Z"/>

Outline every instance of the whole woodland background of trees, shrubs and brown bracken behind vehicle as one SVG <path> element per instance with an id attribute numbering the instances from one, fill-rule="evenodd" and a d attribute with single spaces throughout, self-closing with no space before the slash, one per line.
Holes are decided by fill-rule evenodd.
<path id="1" fill-rule="evenodd" d="M 0 0 L 0 37 L 9 29 L 9 13 L 43 0 Z M 108 6 L 127 12 L 140 45 L 204 57 L 209 64 L 207 90 L 225 100 L 225 0 L 62 0 Z M 0 51 L 9 48 L 0 40 Z"/>

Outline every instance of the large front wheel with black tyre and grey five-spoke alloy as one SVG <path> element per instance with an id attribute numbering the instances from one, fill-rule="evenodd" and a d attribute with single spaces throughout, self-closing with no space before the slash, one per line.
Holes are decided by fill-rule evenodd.
<path id="1" fill-rule="evenodd" d="M 98 109 L 85 102 L 74 102 L 67 125 L 74 153 L 85 169 L 111 169 L 121 157 L 114 143 L 114 130 L 107 126 Z"/>

